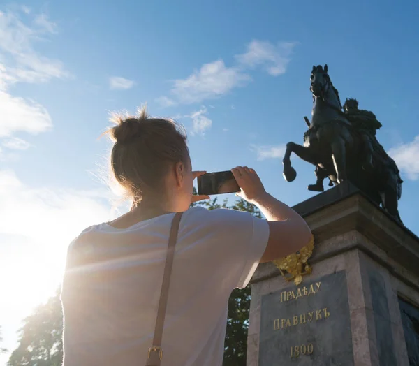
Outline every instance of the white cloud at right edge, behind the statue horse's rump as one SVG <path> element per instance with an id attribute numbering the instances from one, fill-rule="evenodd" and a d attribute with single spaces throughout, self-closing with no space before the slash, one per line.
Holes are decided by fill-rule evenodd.
<path id="1" fill-rule="evenodd" d="M 419 179 L 419 135 L 412 142 L 392 147 L 388 154 L 409 179 Z"/>

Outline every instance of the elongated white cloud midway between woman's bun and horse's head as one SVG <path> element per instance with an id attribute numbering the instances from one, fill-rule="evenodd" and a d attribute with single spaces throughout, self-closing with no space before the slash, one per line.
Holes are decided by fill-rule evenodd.
<path id="1" fill-rule="evenodd" d="M 186 79 L 174 82 L 172 94 L 180 103 L 199 103 L 217 98 L 235 87 L 244 86 L 251 80 L 240 68 L 226 67 L 222 59 L 204 64 Z"/>

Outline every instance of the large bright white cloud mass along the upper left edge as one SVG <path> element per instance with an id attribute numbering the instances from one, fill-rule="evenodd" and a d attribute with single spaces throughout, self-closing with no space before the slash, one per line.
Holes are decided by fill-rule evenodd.
<path id="1" fill-rule="evenodd" d="M 20 11 L 30 12 L 29 8 Z M 24 24 L 19 15 L 0 11 L 0 137 L 17 131 L 40 133 L 52 127 L 47 110 L 36 101 L 10 94 L 10 85 L 47 82 L 69 75 L 61 61 L 34 50 L 37 41 L 56 32 L 56 25 L 44 14 L 33 17 L 29 24 Z"/>

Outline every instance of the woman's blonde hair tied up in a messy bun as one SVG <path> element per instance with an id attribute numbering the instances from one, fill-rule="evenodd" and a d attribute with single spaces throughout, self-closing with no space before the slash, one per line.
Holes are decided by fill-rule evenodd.
<path id="1" fill-rule="evenodd" d="M 136 116 L 113 114 L 111 120 L 116 126 L 104 133 L 115 142 L 110 168 L 133 207 L 144 196 L 162 196 L 170 165 L 189 157 L 184 128 L 172 119 L 149 117 L 146 108 Z"/>

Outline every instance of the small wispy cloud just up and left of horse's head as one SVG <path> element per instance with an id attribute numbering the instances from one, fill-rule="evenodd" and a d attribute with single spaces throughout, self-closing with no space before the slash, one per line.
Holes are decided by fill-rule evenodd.
<path id="1" fill-rule="evenodd" d="M 263 66 L 267 73 L 277 76 L 286 72 L 295 43 L 253 40 L 247 45 L 247 52 L 236 56 L 240 64 L 253 68 Z"/>

